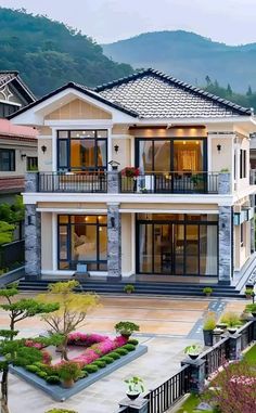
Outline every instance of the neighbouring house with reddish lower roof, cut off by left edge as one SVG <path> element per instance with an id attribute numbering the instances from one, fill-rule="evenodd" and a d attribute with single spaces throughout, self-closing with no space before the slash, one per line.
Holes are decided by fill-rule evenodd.
<path id="1" fill-rule="evenodd" d="M 4 119 L 35 100 L 17 72 L 0 72 L 0 202 L 13 202 L 26 170 L 37 167 L 37 131 Z"/>

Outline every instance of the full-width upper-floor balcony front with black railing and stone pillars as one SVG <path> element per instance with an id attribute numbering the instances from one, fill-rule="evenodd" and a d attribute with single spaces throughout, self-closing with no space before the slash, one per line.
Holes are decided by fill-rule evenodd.
<path id="1" fill-rule="evenodd" d="M 126 177 L 118 171 L 39 172 L 37 191 L 52 193 L 227 194 L 230 175 L 220 172 L 146 172 Z"/>

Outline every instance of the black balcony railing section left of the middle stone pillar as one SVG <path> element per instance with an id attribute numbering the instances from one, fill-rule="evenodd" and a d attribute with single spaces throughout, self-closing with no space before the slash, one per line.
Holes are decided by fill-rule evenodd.
<path id="1" fill-rule="evenodd" d="M 40 172 L 38 175 L 39 192 L 107 192 L 105 171 L 88 172 Z"/>

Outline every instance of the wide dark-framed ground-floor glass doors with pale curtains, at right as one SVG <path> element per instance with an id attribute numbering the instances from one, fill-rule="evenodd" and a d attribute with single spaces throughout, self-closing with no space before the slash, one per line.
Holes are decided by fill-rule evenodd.
<path id="1" fill-rule="evenodd" d="M 218 275 L 218 221 L 207 215 L 137 216 L 137 272 Z"/>

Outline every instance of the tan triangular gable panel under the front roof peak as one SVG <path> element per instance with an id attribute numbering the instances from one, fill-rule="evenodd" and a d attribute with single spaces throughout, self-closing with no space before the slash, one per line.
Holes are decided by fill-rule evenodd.
<path id="1" fill-rule="evenodd" d="M 47 120 L 111 118 L 112 116 L 107 112 L 80 99 L 75 99 L 46 116 Z"/>

